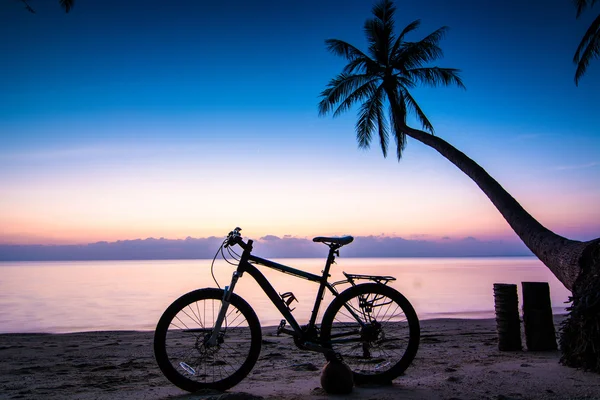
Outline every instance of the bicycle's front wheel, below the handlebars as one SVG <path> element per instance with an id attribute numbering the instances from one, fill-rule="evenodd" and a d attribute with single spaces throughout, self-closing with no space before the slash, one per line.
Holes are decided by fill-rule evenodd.
<path id="1" fill-rule="evenodd" d="M 164 312 L 154 333 L 154 356 L 163 374 L 183 390 L 226 390 L 254 367 L 262 340 L 248 303 L 231 295 L 217 343 L 209 345 L 223 290 L 200 289 L 181 296 Z"/>

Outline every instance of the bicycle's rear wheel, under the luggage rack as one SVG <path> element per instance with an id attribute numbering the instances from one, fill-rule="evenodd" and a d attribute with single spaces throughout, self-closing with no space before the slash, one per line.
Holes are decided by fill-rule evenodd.
<path id="1" fill-rule="evenodd" d="M 343 291 L 323 316 L 321 342 L 339 353 L 354 381 L 386 383 L 402 374 L 419 348 L 419 319 L 397 290 L 367 283 Z"/>

